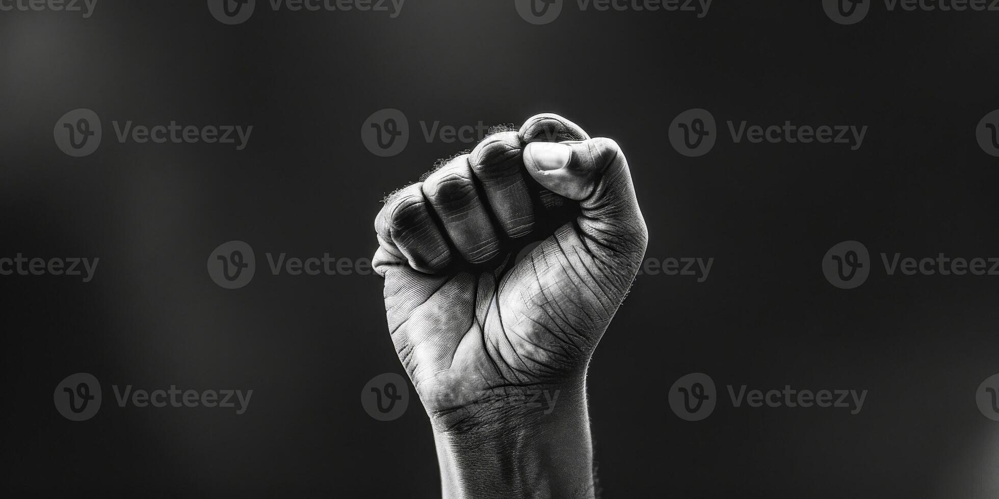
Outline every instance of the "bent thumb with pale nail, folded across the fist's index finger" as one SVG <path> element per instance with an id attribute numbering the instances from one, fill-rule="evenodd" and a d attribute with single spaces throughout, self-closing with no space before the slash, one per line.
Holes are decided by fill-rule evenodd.
<path id="1" fill-rule="evenodd" d="M 648 233 L 627 160 L 616 142 L 532 142 L 523 149 L 523 164 L 541 187 L 579 202 L 579 229 L 603 252 L 641 258 Z"/>

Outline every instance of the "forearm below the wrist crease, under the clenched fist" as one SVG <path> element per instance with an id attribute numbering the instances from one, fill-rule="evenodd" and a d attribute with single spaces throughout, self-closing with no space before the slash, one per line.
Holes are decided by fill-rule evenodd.
<path id="1" fill-rule="evenodd" d="M 583 388 L 558 390 L 550 406 L 536 405 L 490 410 L 459 429 L 435 423 L 445 499 L 593 497 Z"/>

